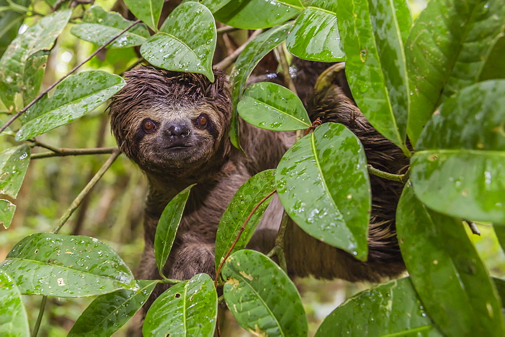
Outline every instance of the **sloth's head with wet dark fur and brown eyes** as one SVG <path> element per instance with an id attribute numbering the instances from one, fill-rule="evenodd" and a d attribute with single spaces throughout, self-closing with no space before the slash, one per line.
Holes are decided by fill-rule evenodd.
<path id="1" fill-rule="evenodd" d="M 225 74 L 140 67 L 126 73 L 126 86 L 110 105 L 120 149 L 145 172 L 183 176 L 205 170 L 225 147 L 231 98 Z"/>

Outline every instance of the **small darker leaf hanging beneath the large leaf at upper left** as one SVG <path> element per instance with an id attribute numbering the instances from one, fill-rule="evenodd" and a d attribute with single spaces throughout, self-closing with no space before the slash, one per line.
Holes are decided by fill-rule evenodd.
<path id="1" fill-rule="evenodd" d="M 27 105 L 38 95 L 42 78 L 44 77 L 45 66 L 49 50 L 39 50 L 31 54 L 25 64 L 25 88 L 23 92 L 23 104 Z"/>

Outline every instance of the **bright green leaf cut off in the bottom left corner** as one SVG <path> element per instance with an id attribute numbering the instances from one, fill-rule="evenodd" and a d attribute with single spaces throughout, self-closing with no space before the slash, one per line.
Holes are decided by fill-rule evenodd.
<path id="1" fill-rule="evenodd" d="M 0 335 L 29 336 L 28 317 L 21 300 L 21 294 L 14 280 L 6 272 L 0 270 Z"/>

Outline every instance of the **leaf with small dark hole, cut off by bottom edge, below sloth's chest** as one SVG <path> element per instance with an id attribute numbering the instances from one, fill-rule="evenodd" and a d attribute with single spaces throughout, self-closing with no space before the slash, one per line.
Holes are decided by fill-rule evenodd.
<path id="1" fill-rule="evenodd" d="M 214 336 L 218 296 L 212 278 L 197 274 L 172 286 L 147 311 L 144 336 Z"/>

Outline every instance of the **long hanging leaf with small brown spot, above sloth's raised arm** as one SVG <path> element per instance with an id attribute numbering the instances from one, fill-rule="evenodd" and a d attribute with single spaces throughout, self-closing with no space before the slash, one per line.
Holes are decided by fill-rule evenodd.
<path id="1" fill-rule="evenodd" d="M 408 152 L 409 83 L 395 13 L 392 1 L 344 1 L 338 4 L 338 30 L 358 106 L 377 131 Z"/>

